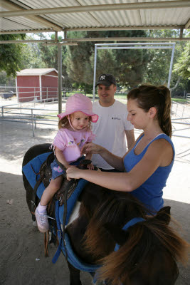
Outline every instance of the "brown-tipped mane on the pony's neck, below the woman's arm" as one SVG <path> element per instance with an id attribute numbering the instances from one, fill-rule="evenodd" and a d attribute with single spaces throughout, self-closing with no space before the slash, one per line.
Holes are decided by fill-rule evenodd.
<path id="1" fill-rule="evenodd" d="M 97 260 L 107 256 L 114 250 L 115 241 L 104 225 L 112 223 L 123 227 L 127 219 L 130 220 L 133 217 L 147 219 L 146 211 L 147 209 L 130 193 L 110 193 L 104 201 L 97 204 L 93 217 L 90 219 L 84 236 L 85 249 Z"/>

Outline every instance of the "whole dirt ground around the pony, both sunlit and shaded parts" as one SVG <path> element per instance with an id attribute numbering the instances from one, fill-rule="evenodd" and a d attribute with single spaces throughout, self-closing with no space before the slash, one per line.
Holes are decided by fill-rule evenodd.
<path id="1" fill-rule="evenodd" d="M 56 248 L 50 245 L 49 257 L 44 257 L 43 234 L 33 226 L 21 176 L 25 152 L 38 143 L 52 142 L 56 129 L 37 128 L 33 137 L 30 124 L 0 121 L 0 131 L 0 284 L 68 285 L 69 272 L 63 255 L 52 264 Z M 164 202 L 171 206 L 172 216 L 181 224 L 181 235 L 190 242 L 189 139 L 173 141 L 176 160 L 164 190 Z M 90 275 L 82 272 L 81 281 L 83 285 L 91 284 Z M 176 285 L 187 284 L 190 284 L 190 264 L 187 267 L 179 264 Z"/>

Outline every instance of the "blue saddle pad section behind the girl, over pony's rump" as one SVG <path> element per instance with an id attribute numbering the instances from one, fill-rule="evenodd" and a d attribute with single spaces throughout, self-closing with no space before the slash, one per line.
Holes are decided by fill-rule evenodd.
<path id="1" fill-rule="evenodd" d="M 45 152 L 41 155 L 38 155 L 33 158 L 33 160 L 29 161 L 27 165 L 23 166 L 23 173 L 33 189 L 36 185 L 37 180 L 39 180 L 40 178 L 40 175 L 36 175 L 36 173 L 40 171 L 42 163 L 47 159 L 48 155 L 50 154 L 51 152 Z M 37 190 L 37 196 L 39 199 L 41 199 L 44 190 L 45 186 L 43 185 L 43 182 L 41 182 Z"/>

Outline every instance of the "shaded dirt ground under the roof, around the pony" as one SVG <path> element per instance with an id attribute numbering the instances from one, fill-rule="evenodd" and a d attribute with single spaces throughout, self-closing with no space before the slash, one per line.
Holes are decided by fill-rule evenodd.
<path id="1" fill-rule="evenodd" d="M 44 257 L 43 234 L 33 227 L 31 214 L 26 204 L 21 175 L 0 172 L 1 177 L 1 283 L 4 285 L 68 285 L 69 272 L 63 255 L 56 264 L 51 259 L 56 253 L 53 244 L 49 246 L 49 257 Z M 12 204 L 7 204 L 7 200 Z M 190 242 L 189 204 L 164 200 L 171 206 L 171 214 L 181 224 L 181 235 Z M 81 273 L 83 285 L 89 285 L 90 275 Z M 176 285 L 190 284 L 190 264 L 186 268 L 179 264 L 179 278 Z"/>

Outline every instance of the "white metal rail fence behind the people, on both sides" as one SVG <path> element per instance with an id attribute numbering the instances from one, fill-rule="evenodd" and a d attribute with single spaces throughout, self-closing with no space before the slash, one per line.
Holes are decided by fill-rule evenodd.
<path id="1" fill-rule="evenodd" d="M 64 107 L 65 101 L 63 101 Z M 25 104 L 10 104 L 1 106 L 0 120 L 10 122 L 30 123 L 33 136 L 37 125 L 51 125 L 52 128 L 58 126 L 58 104 L 52 104 L 51 109 L 36 108 L 41 104 L 33 102 L 33 108 L 24 107 Z M 190 138 L 190 105 L 182 105 L 172 102 L 171 108 L 172 135 L 181 138 Z M 185 130 L 185 133 L 184 133 Z"/>

